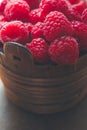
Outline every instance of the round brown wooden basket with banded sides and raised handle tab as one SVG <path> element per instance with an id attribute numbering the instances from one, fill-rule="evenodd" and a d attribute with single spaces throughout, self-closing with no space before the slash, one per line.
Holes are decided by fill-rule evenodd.
<path id="1" fill-rule="evenodd" d="M 24 46 L 7 43 L 0 53 L 0 76 L 16 105 L 35 113 L 60 112 L 87 94 L 87 55 L 73 65 L 35 65 Z"/>

